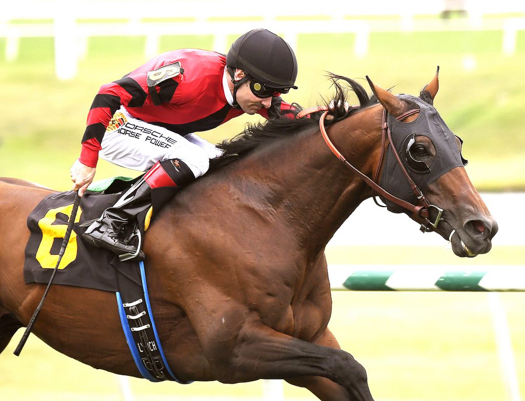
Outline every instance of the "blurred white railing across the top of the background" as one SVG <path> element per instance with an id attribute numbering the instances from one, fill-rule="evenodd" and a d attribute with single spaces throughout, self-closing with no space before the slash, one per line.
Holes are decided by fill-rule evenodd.
<path id="1" fill-rule="evenodd" d="M 300 34 L 352 33 L 355 35 L 353 51 L 358 58 L 366 56 L 371 32 L 493 30 L 503 32 L 503 54 L 514 54 L 518 31 L 525 30 L 525 17 L 483 18 L 485 12 L 494 11 L 492 2 L 471 1 L 463 2 L 468 18 L 438 18 L 450 7 L 449 3 L 332 1 L 329 8 L 314 8 L 274 0 L 260 7 L 233 7 L 228 2 L 213 0 L 40 0 L 24 2 L 22 6 L 6 5 L 0 14 L 0 37 L 6 38 L 7 61 L 18 57 L 20 38 L 53 37 L 55 69 L 60 79 L 76 76 L 78 61 L 86 56 L 90 37 L 144 36 L 144 55 L 149 58 L 158 53 L 161 36 L 212 35 L 213 50 L 225 52 L 229 46 L 228 35 L 240 35 L 254 27 L 283 35 L 292 48 L 297 47 Z M 497 11 L 522 8 L 525 15 L 524 5 L 512 3 L 500 0 Z M 356 17 L 378 13 L 392 18 Z M 436 18 L 414 18 L 419 14 Z"/>

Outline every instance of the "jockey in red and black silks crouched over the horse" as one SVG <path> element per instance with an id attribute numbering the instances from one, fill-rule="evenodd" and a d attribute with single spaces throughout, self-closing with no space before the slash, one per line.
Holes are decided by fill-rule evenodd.
<path id="1" fill-rule="evenodd" d="M 194 132 L 207 131 L 243 113 L 271 118 L 292 106 L 280 98 L 297 77 L 297 60 L 285 40 L 250 30 L 227 56 L 214 51 L 167 51 L 103 85 L 88 113 L 80 157 L 71 166 L 72 189 L 82 196 L 98 157 L 147 171 L 117 203 L 104 210 L 83 238 L 123 260 L 142 260 L 129 227 L 151 207 L 151 190 L 181 187 L 206 173 L 221 154 Z M 133 255 L 133 256 L 132 256 Z"/>

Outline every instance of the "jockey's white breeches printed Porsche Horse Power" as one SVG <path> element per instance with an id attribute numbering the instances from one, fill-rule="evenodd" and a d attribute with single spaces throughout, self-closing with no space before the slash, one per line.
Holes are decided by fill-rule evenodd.
<path id="1" fill-rule="evenodd" d="M 135 119 L 121 107 L 102 140 L 99 156 L 131 170 L 148 171 L 158 161 L 179 159 L 195 177 L 208 171 L 209 159 L 222 152 L 196 134 L 181 136 L 161 126 Z"/>

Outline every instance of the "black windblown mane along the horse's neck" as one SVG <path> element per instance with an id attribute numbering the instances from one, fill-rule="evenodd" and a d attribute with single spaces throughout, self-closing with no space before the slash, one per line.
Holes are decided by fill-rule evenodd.
<path id="1" fill-rule="evenodd" d="M 328 106 L 331 100 L 334 100 L 335 106 L 332 108 L 332 120 L 327 120 L 326 125 L 333 124 L 340 121 L 348 115 L 355 114 L 364 107 L 377 102 L 375 96 L 369 97 L 366 90 L 356 81 L 346 78 L 331 72 L 327 72 L 327 77 L 332 81 L 332 86 L 335 88 L 335 94 L 330 100 L 324 99 L 324 105 Z M 340 81 L 344 81 L 341 85 Z M 348 93 L 354 92 L 359 100 L 359 107 L 352 107 L 348 112 L 344 109 L 344 102 L 348 99 Z M 258 149 L 265 144 L 275 141 L 279 138 L 284 138 L 290 135 L 295 135 L 304 131 L 306 127 L 311 127 L 319 124 L 319 119 L 322 112 L 315 112 L 310 114 L 310 118 L 296 118 L 297 114 L 303 109 L 299 104 L 292 103 L 293 108 L 287 110 L 286 113 L 278 113 L 276 117 L 257 123 L 249 123 L 247 128 L 234 136 L 234 138 L 224 140 L 218 144 L 217 147 L 223 151 L 222 156 L 210 160 L 209 171 L 216 170 L 230 162 L 238 160 L 255 149 Z"/>

